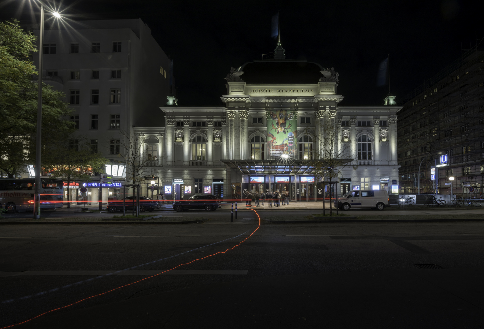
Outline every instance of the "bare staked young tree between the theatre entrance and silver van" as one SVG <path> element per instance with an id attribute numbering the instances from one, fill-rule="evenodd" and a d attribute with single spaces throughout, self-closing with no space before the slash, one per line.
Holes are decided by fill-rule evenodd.
<path id="1" fill-rule="evenodd" d="M 304 132 L 319 144 L 319 147 L 315 148 L 315 159 L 311 161 L 311 164 L 314 166 L 315 178 L 323 181 L 323 194 L 327 186 L 326 182 L 330 182 L 330 215 L 333 215 L 331 186 L 333 181 L 337 181 L 341 172 L 350 166 L 351 161 L 353 161 L 351 157 L 351 143 L 349 135 L 346 134 L 346 131 L 345 134 L 343 133 L 343 130 L 336 124 L 336 119 L 334 118 L 326 116 L 322 123 L 316 123 L 316 130 L 307 128 Z M 353 166 L 353 169 L 356 169 L 356 167 Z M 326 195 L 323 197 L 323 203 L 325 197 Z M 324 205 L 323 214 L 325 214 Z M 336 214 L 338 214 L 337 208 Z"/>

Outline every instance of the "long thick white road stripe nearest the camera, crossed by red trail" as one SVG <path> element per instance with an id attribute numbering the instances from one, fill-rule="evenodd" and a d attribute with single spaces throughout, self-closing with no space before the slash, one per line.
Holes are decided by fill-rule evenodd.
<path id="1" fill-rule="evenodd" d="M 25 272 L 0 272 L 0 277 L 11 276 L 37 276 L 37 275 L 53 275 L 53 276 L 65 276 L 65 275 L 155 275 L 164 270 L 126 270 L 126 271 L 25 271 Z M 237 269 L 181 269 L 171 270 L 161 275 L 245 275 L 248 270 Z"/>

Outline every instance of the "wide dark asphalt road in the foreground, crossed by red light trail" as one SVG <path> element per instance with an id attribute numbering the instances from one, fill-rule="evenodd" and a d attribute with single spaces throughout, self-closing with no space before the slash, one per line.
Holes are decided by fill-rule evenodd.
<path id="1" fill-rule="evenodd" d="M 257 228 L 240 214 L 2 225 L 0 328 L 226 251 Z M 482 328 L 483 251 L 483 222 L 265 224 L 233 250 L 14 328 Z"/>

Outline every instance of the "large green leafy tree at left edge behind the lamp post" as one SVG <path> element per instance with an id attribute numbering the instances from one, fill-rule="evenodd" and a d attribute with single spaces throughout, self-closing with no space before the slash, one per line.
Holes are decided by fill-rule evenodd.
<path id="1" fill-rule="evenodd" d="M 0 22 L 0 170 L 13 178 L 34 163 L 37 129 L 38 76 L 29 60 L 37 52 L 36 37 L 15 19 Z M 45 148 L 66 136 L 73 123 L 65 95 L 42 85 L 42 143 Z"/>

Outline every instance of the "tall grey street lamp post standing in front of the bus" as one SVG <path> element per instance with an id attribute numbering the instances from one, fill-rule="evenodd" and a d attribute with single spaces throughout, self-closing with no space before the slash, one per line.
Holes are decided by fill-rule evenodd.
<path id="1" fill-rule="evenodd" d="M 42 150 L 42 55 L 44 52 L 44 4 L 40 5 L 40 36 L 39 36 L 39 89 L 37 94 L 37 135 L 35 141 L 35 187 L 33 218 L 40 219 L 40 188 L 42 179 L 40 178 L 40 152 Z"/>

